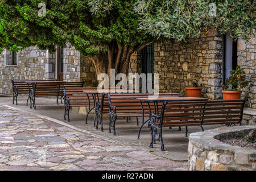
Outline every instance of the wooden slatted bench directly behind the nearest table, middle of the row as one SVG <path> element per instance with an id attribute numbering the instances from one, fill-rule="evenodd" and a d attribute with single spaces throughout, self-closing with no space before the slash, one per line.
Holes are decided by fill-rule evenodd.
<path id="1" fill-rule="evenodd" d="M 111 133 L 111 127 L 113 127 L 113 134 L 115 133 L 115 121 L 117 117 L 126 117 L 126 122 L 128 122 L 128 117 L 136 117 L 137 125 L 139 125 L 138 117 L 142 117 L 142 125 L 139 129 L 139 134 L 141 133 L 142 126 L 148 121 L 144 121 L 144 115 L 149 114 L 148 106 L 144 102 L 138 101 L 138 97 L 148 97 L 152 94 L 148 93 L 110 93 L 108 94 L 108 101 L 104 101 L 104 113 L 109 111 L 109 133 Z M 159 93 L 158 97 L 172 97 L 179 96 L 179 93 Z M 151 104 L 150 104 L 151 105 Z M 107 107 L 106 107 L 107 106 Z M 139 139 L 138 134 L 138 139 Z"/>

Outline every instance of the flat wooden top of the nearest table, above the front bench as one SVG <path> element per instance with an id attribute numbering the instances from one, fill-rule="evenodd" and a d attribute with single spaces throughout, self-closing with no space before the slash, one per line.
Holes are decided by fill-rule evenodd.
<path id="1" fill-rule="evenodd" d="M 156 97 L 156 98 L 150 98 L 150 97 L 139 97 L 136 98 L 139 101 L 208 101 L 208 98 L 204 97 Z"/>

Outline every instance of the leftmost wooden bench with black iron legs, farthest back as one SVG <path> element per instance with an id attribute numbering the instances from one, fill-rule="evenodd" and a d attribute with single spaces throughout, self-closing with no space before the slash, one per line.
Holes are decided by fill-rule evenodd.
<path id="1" fill-rule="evenodd" d="M 16 105 L 18 105 L 18 95 L 19 94 L 27 94 L 28 95 L 28 85 L 26 81 L 55 81 L 55 80 L 11 80 L 11 83 L 13 84 L 13 104 L 14 101 L 16 101 Z M 27 98 L 28 102 L 29 97 Z"/>

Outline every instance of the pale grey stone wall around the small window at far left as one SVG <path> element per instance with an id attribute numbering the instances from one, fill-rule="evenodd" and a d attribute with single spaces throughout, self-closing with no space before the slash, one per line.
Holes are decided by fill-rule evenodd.
<path id="1" fill-rule="evenodd" d="M 5 50 L 0 55 L 0 93 L 12 94 L 12 79 L 51 79 L 55 78 L 52 65 L 55 64 L 55 55 L 38 47 L 27 47 L 17 52 L 17 65 L 5 65 L 6 55 L 10 52 Z"/>

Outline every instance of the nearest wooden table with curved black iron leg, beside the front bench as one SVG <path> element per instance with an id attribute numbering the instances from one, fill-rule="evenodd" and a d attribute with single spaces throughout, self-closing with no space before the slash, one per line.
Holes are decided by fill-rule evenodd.
<path id="1" fill-rule="evenodd" d="M 150 110 L 149 117 L 142 123 L 142 126 L 150 121 L 150 115 L 151 113 L 154 113 L 156 115 L 159 114 L 159 102 L 163 102 L 164 105 L 166 105 L 168 102 L 186 102 L 186 101 L 208 101 L 208 98 L 203 98 L 203 97 L 156 97 L 156 98 L 149 98 L 149 97 L 139 97 L 137 98 L 138 101 L 140 102 L 147 102 L 148 108 Z M 150 107 L 150 102 L 153 102 L 154 104 L 154 109 L 151 109 Z M 151 110 L 154 110 L 151 112 Z M 139 135 L 141 134 L 141 128 L 139 129 L 138 133 L 138 139 Z M 179 127 L 180 130 L 180 127 Z M 186 126 L 186 131 L 187 131 L 187 126 Z"/>

